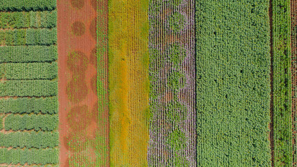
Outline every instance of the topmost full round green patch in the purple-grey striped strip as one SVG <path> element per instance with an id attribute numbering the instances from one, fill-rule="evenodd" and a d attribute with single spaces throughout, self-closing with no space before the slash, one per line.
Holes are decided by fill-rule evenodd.
<path id="1" fill-rule="evenodd" d="M 173 33 L 178 33 L 184 29 L 186 18 L 181 13 L 172 13 L 168 18 L 168 27 Z"/>

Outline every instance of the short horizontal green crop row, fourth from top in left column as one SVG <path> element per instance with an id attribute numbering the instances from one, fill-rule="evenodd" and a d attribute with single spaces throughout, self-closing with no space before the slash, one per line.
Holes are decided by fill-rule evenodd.
<path id="1" fill-rule="evenodd" d="M 0 63 L 51 62 L 58 59 L 56 46 L 4 46 L 0 47 Z"/>

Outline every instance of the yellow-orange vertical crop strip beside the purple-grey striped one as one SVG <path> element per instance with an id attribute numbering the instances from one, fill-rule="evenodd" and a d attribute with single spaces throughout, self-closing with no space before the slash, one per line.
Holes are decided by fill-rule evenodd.
<path id="1" fill-rule="evenodd" d="M 110 165 L 147 166 L 148 1 L 109 1 Z"/>

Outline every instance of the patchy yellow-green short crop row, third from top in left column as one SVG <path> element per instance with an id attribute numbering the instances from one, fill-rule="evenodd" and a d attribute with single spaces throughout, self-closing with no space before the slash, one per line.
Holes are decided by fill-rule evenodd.
<path id="1" fill-rule="evenodd" d="M 6 29 L 0 31 L 1 45 L 54 45 L 57 29 Z"/>

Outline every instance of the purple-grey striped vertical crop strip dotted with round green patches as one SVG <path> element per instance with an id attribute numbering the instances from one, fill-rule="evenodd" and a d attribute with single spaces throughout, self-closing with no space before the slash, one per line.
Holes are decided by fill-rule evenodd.
<path id="1" fill-rule="evenodd" d="M 195 1 L 150 1 L 149 166 L 196 166 Z"/>

